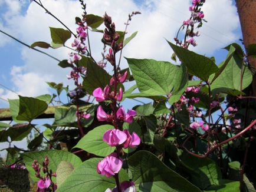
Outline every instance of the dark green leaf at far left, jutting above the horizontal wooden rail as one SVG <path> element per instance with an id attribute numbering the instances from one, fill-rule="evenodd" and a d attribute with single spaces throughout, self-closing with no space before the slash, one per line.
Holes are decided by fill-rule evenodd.
<path id="1" fill-rule="evenodd" d="M 47 103 L 42 100 L 32 97 L 22 97 L 19 95 L 19 113 L 17 120 L 30 122 L 43 114 L 47 108 Z"/>

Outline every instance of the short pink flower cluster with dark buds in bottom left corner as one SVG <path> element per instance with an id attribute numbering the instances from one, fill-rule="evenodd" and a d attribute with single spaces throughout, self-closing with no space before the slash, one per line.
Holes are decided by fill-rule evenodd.
<path id="1" fill-rule="evenodd" d="M 37 191 L 55 191 L 57 190 L 57 185 L 52 182 L 52 177 L 56 177 L 56 173 L 52 173 L 52 170 L 48 169 L 49 160 L 48 157 L 45 156 L 44 161 L 42 161 L 42 172 L 46 174 L 46 176 L 41 176 L 40 171 L 41 167 L 38 164 L 37 160 L 34 160 L 32 163 L 32 168 L 35 170 L 35 177 L 40 180 L 37 182 Z"/>

